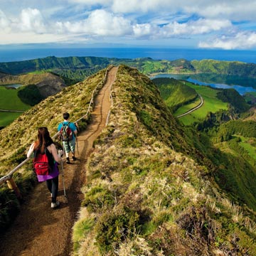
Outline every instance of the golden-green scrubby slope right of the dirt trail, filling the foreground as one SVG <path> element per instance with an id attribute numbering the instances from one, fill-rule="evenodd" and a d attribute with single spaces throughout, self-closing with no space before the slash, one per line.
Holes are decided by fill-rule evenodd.
<path id="1" fill-rule="evenodd" d="M 216 166 L 193 154 L 153 83 L 120 66 L 112 96 L 87 164 L 74 254 L 256 255 L 255 213 L 219 190 Z"/>

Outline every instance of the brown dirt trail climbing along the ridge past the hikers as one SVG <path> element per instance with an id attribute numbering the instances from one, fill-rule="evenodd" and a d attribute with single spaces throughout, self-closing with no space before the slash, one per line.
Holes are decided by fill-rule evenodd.
<path id="1" fill-rule="evenodd" d="M 82 200 L 80 188 L 85 182 L 85 164 L 92 151 L 92 143 L 105 127 L 110 110 L 110 85 L 114 82 L 117 68 L 112 68 L 107 82 L 95 99 L 92 123 L 86 131 L 78 135 L 79 154 L 76 161 L 68 165 L 63 162 L 65 179 L 65 198 L 63 179 L 59 176 L 60 208 L 50 208 L 50 193 L 46 183 L 39 183 L 11 228 L 0 237 L 0 255 L 4 256 L 65 256 L 72 250 L 72 227 Z M 76 147 L 77 149 L 77 147 Z"/>

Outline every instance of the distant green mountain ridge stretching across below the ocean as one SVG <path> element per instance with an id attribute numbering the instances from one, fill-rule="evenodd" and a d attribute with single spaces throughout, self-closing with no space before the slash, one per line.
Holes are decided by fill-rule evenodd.
<path id="1" fill-rule="evenodd" d="M 9 63 L 0 63 L 0 72 L 18 75 L 34 72 L 36 70 L 52 70 L 54 73 L 63 73 L 64 70 L 72 70 L 81 81 L 78 71 L 83 75 L 92 75 L 107 65 L 125 64 L 137 68 L 140 72 L 151 75 L 152 73 L 218 73 L 223 75 L 240 75 L 256 78 L 256 64 L 243 63 L 241 61 L 226 60 L 154 60 L 151 58 L 105 58 L 105 57 L 63 57 L 49 56 L 33 60 L 23 60 Z M 85 70 L 87 70 L 85 72 Z M 85 73 L 84 73 L 85 72 Z M 69 74 L 71 75 L 71 74 Z M 72 76 L 72 75 L 71 75 Z M 78 81 L 77 81 L 78 82 Z"/>

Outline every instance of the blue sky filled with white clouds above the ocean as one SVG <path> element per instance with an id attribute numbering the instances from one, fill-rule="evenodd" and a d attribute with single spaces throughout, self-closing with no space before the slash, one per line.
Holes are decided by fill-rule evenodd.
<path id="1" fill-rule="evenodd" d="M 0 45 L 256 49 L 256 0 L 0 0 Z"/>

